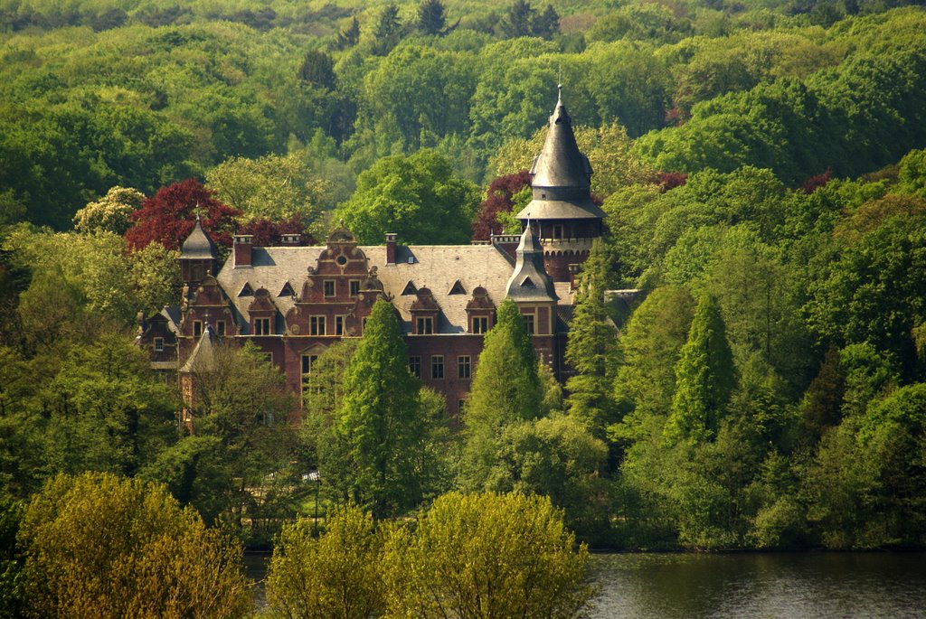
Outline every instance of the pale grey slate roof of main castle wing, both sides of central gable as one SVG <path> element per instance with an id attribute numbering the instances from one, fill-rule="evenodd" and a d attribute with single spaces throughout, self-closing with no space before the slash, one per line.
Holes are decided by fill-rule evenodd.
<path id="1" fill-rule="evenodd" d="M 359 248 L 367 255 L 369 266 L 377 267 L 377 277 L 384 291 L 392 296 L 406 332 L 411 330 L 411 304 L 417 298 L 414 294 L 402 294 L 409 281 L 418 290 L 430 289 L 440 305 L 438 333 L 466 333 L 466 305 L 472 298 L 472 291 L 482 286 L 497 307 L 505 298 L 507 279 L 513 267 L 511 257 L 494 245 L 398 245 L 394 265 L 386 264 L 385 245 Z M 262 286 L 270 291 L 270 299 L 285 316 L 294 306 L 294 298 L 277 293 L 286 282 L 294 290 L 302 290 L 307 267 L 316 266 L 324 249 L 324 246 L 255 247 L 248 268 L 234 268 L 232 258 L 226 261 L 216 279 L 232 300 L 239 325 L 249 322 L 247 308 L 254 299 L 253 296 L 238 296 L 245 283 L 253 290 Z M 466 291 L 464 294 L 451 294 L 457 280 Z"/>

